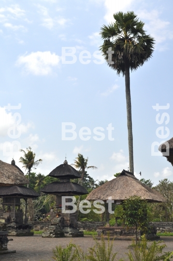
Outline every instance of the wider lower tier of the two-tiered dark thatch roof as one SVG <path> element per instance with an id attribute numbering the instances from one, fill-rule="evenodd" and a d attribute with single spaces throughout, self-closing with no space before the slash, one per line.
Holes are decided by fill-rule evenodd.
<path id="1" fill-rule="evenodd" d="M 43 193 L 47 194 L 72 194 L 72 195 L 85 195 L 88 194 L 87 190 L 77 183 L 68 181 L 59 182 L 55 181 L 41 189 Z"/>

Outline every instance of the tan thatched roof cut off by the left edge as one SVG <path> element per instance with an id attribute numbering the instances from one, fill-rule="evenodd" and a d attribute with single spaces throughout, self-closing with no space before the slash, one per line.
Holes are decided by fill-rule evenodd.
<path id="1" fill-rule="evenodd" d="M 28 179 L 16 166 L 0 160 L 0 187 L 28 184 Z"/>

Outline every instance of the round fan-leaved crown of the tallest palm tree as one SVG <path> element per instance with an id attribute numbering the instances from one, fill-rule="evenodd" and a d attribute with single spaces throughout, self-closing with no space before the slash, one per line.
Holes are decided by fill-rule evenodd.
<path id="1" fill-rule="evenodd" d="M 117 74 L 125 75 L 125 63 L 130 70 L 136 70 L 145 61 L 152 57 L 154 38 L 146 35 L 144 23 L 139 21 L 134 12 L 114 14 L 115 23 L 101 28 L 101 38 L 104 43 L 100 50 L 108 65 L 116 70 Z M 112 48 L 112 63 L 108 61 L 108 48 Z"/>

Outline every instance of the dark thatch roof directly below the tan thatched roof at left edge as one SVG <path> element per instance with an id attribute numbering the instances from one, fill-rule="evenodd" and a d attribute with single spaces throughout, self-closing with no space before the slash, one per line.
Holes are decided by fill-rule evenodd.
<path id="1" fill-rule="evenodd" d="M 40 195 L 23 186 L 0 187 L 0 197 L 37 198 Z"/>

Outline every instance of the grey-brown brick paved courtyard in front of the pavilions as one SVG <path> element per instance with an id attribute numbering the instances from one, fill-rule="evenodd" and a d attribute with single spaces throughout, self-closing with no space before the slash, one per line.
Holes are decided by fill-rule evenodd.
<path id="1" fill-rule="evenodd" d="M 13 237 L 9 241 L 9 250 L 16 249 L 16 253 L 0 256 L 0 261 L 49 261 L 52 260 L 52 248 L 58 245 L 66 246 L 71 240 L 74 244 L 79 245 L 85 251 L 90 246 L 94 246 L 94 240 L 90 236 L 84 238 L 42 238 L 41 235 Z M 173 251 L 173 237 L 161 237 L 167 248 L 165 251 Z M 118 252 L 117 259 L 125 258 L 128 252 L 128 241 L 114 241 L 114 250 Z"/>

